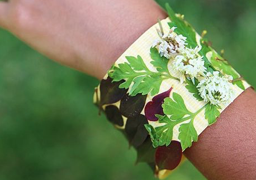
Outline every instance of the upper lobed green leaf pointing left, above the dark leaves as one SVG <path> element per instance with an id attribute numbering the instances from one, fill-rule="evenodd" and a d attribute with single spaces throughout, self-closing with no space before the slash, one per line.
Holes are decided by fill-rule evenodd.
<path id="1" fill-rule="evenodd" d="M 158 69 L 163 69 L 165 66 L 164 71 L 168 71 L 166 60 L 162 59 L 162 57 L 159 59 L 155 52 L 153 52 L 152 57 L 154 58 L 152 62 Z M 126 56 L 126 59 L 129 63 L 124 62 L 123 64 L 118 64 L 118 67 L 112 67 L 108 71 L 108 75 L 113 81 L 125 80 L 119 85 L 119 88 L 129 89 L 131 87 L 129 91 L 129 95 L 131 96 L 139 93 L 143 95 L 150 93 L 152 96 L 158 94 L 162 81 L 167 79 L 166 73 L 163 75 L 159 72 L 149 71 L 140 56 L 137 58 Z M 161 64 L 162 62 L 160 60 L 165 61 L 165 64 Z"/>

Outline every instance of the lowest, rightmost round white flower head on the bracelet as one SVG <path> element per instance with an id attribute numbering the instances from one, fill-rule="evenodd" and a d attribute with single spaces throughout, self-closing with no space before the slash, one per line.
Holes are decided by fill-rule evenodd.
<path id="1" fill-rule="evenodd" d="M 205 102 L 214 105 L 226 105 L 234 98 L 232 76 L 221 76 L 219 71 L 207 72 L 206 77 L 197 85 L 200 96 Z"/>

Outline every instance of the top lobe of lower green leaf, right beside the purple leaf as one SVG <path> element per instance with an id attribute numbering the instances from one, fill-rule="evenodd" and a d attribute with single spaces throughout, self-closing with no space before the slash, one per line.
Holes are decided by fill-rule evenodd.
<path id="1" fill-rule="evenodd" d="M 173 100 L 171 98 L 165 98 L 162 106 L 164 114 L 171 115 L 170 119 L 172 120 L 178 120 L 183 118 L 186 114 L 192 114 L 187 110 L 181 95 L 177 93 L 173 93 Z"/>

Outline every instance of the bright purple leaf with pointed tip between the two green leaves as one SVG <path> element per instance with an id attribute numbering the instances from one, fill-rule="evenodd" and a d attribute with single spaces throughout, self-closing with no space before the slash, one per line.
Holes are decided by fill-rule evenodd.
<path id="1" fill-rule="evenodd" d="M 168 91 L 161 93 L 157 96 L 154 96 L 152 101 L 149 101 L 145 106 L 145 116 L 146 119 L 150 121 L 157 121 L 158 118 L 155 114 L 164 115 L 162 104 L 164 103 L 164 99 L 170 96 L 170 91 L 172 91 L 172 87 Z"/>

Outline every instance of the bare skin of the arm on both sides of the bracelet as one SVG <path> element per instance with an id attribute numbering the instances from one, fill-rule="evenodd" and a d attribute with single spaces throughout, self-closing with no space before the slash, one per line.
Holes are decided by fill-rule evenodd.
<path id="1" fill-rule="evenodd" d="M 50 59 L 98 79 L 132 42 L 165 17 L 153 0 L 0 2 L 1 27 Z M 253 180 L 255 120 L 256 93 L 250 88 L 184 154 L 208 179 Z"/>

